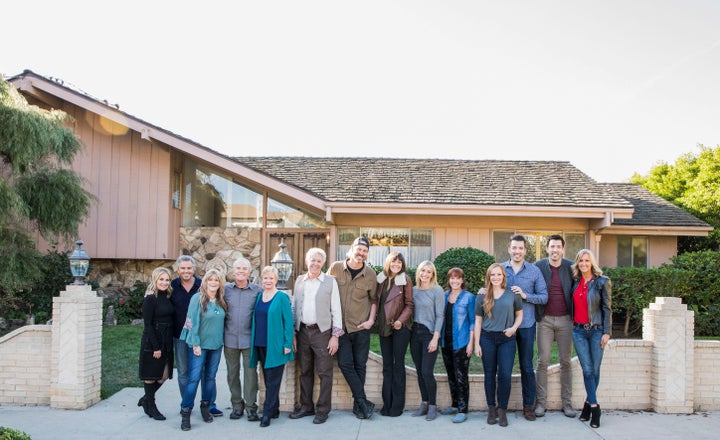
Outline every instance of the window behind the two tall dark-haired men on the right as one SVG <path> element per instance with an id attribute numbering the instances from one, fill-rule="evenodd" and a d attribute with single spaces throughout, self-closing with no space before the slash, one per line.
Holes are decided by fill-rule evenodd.
<path id="1" fill-rule="evenodd" d="M 534 263 L 547 257 L 547 239 L 553 234 L 562 235 L 565 239 L 565 258 L 572 260 L 580 249 L 585 248 L 585 234 L 579 232 L 533 232 L 533 231 L 493 231 L 493 256 L 495 261 L 510 259 L 508 244 L 510 237 L 520 234 L 525 237 L 527 254 L 525 260 Z"/>

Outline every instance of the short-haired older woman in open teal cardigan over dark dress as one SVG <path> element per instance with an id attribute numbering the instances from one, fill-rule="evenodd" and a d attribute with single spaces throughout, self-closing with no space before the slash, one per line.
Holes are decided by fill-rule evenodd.
<path id="1" fill-rule="evenodd" d="M 293 356 L 293 315 L 290 298 L 275 287 L 278 272 L 266 266 L 260 273 L 263 293 L 258 295 L 253 312 L 250 367 L 262 363 L 265 380 L 265 403 L 261 427 L 270 426 L 270 419 L 280 415 L 280 384 L 285 363 Z"/>

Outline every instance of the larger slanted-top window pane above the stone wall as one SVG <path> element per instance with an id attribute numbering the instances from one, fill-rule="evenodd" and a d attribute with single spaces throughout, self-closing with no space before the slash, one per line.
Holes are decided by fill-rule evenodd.
<path id="1" fill-rule="evenodd" d="M 262 226 L 263 196 L 230 176 L 185 160 L 183 226 Z"/>

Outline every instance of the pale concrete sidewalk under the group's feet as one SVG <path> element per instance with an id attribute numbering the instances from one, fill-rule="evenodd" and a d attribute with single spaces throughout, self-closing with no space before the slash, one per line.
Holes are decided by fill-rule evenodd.
<path id="1" fill-rule="evenodd" d="M 350 411 L 332 411 L 325 424 L 313 425 L 312 417 L 288 419 L 281 413 L 267 428 L 245 417 L 230 420 L 230 392 L 227 387 L 225 361 L 221 360 L 217 374 L 218 407 L 224 417 L 213 423 L 204 423 L 195 405 L 188 432 L 180 430 L 180 396 L 177 380 L 167 382 L 158 392 L 160 411 L 168 418 L 155 421 L 148 418 L 137 406 L 142 388 L 125 388 L 109 399 L 84 411 L 56 410 L 47 406 L 0 406 L 0 426 L 22 430 L 34 440 L 50 439 L 145 439 L 145 438 L 245 438 L 293 440 L 319 438 L 367 439 L 387 438 L 433 439 L 452 436 L 460 438 L 556 438 L 556 439 L 712 439 L 720 434 L 720 412 L 703 412 L 690 415 L 656 414 L 648 412 L 605 411 L 599 429 L 592 429 L 577 418 L 569 419 L 561 412 L 548 412 L 545 417 L 528 422 L 522 411 L 509 415 L 510 426 L 501 428 L 485 423 L 486 412 L 471 412 L 465 423 L 453 424 L 451 417 L 440 416 L 433 422 L 410 416 L 417 402 L 408 402 L 408 411 L 400 417 L 373 415 L 370 420 L 358 420 Z M 415 384 L 408 382 L 408 386 Z M 379 407 L 382 404 L 378 404 Z"/>

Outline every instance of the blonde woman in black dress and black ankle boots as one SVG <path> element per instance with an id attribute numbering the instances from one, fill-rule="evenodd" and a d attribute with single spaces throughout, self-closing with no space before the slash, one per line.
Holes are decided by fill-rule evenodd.
<path id="1" fill-rule="evenodd" d="M 157 406 L 155 393 L 173 370 L 173 317 L 175 307 L 170 302 L 170 271 L 158 267 L 152 273 L 152 281 L 143 300 L 143 334 L 140 341 L 140 380 L 145 385 L 145 395 L 138 401 L 145 414 L 155 420 L 165 420 Z"/>

